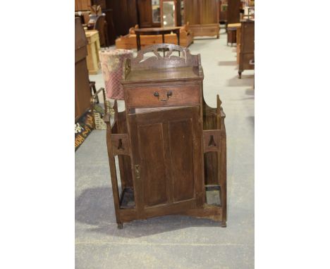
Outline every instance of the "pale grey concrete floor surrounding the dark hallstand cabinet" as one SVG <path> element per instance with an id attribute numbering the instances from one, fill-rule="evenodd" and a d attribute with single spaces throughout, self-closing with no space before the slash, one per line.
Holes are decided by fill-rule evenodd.
<path id="1" fill-rule="evenodd" d="M 238 79 L 235 50 L 224 30 L 190 46 L 202 57 L 207 104 L 216 106 L 219 94 L 226 113 L 227 227 L 169 215 L 118 230 L 106 134 L 94 130 L 75 152 L 76 268 L 254 268 L 254 71 Z M 104 87 L 101 73 L 90 78 Z"/>

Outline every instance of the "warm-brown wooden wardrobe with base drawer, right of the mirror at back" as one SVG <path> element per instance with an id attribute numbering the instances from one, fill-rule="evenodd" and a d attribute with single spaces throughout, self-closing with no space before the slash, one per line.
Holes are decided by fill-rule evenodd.
<path id="1" fill-rule="evenodd" d="M 185 0 L 185 23 L 190 23 L 194 37 L 219 38 L 219 1 L 218 0 Z"/>

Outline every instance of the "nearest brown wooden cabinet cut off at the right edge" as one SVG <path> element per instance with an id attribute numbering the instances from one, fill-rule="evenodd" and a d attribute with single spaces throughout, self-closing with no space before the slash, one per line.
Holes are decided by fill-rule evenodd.
<path id="1" fill-rule="evenodd" d="M 255 69 L 255 65 L 251 64 L 255 59 L 255 20 L 240 21 L 239 38 L 238 75 L 241 78 L 243 70 Z"/>

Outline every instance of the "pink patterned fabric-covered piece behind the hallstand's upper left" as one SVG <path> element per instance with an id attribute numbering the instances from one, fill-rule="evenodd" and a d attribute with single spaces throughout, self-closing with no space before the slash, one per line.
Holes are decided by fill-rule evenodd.
<path id="1" fill-rule="evenodd" d="M 106 98 L 123 100 L 123 61 L 131 58 L 133 51 L 128 49 L 106 49 L 99 51 L 104 84 L 106 86 Z"/>

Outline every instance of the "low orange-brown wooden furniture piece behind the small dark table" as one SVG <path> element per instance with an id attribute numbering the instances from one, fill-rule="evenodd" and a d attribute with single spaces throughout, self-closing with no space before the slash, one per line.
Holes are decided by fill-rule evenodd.
<path id="1" fill-rule="evenodd" d="M 118 37 L 116 39 L 116 49 L 137 49 L 135 29 L 138 29 L 138 25 L 130 28 L 128 35 Z M 143 35 L 140 37 L 141 48 L 150 46 L 153 44 L 178 44 L 178 38 L 175 33 L 164 35 L 164 42 L 161 35 Z M 181 27 L 180 30 L 180 44 L 181 46 L 188 47 L 193 43 L 193 32 L 189 29 L 189 23 Z"/>

